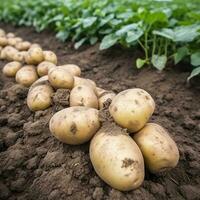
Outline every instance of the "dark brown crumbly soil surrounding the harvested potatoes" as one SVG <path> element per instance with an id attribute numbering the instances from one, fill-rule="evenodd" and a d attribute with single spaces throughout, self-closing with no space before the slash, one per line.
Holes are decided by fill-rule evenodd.
<path id="1" fill-rule="evenodd" d="M 133 87 L 147 90 L 157 105 L 150 121 L 162 124 L 180 151 L 175 169 L 159 175 L 146 171 L 144 183 L 134 191 L 112 189 L 96 175 L 89 143 L 66 145 L 49 132 L 48 121 L 68 105 L 64 98 L 69 91 L 58 90 L 54 106 L 33 113 L 26 106 L 28 89 L 0 73 L 0 199 L 200 199 L 200 87 L 199 80 L 186 84 L 185 66 L 138 71 L 134 60 L 140 53 L 134 49 L 114 47 L 100 52 L 97 44 L 75 51 L 72 44 L 56 40 L 50 30 L 36 33 L 32 28 L 0 27 L 55 51 L 59 64 L 79 65 L 83 77 L 99 87 L 114 92 Z M 0 61 L 1 69 L 4 64 Z"/>

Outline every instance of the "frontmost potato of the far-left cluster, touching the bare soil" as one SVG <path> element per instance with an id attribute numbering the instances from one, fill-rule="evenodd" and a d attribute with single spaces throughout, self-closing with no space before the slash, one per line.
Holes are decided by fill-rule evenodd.
<path id="1" fill-rule="evenodd" d="M 15 79 L 21 85 L 31 86 L 38 79 L 35 67 L 33 65 L 25 65 L 16 73 Z"/>

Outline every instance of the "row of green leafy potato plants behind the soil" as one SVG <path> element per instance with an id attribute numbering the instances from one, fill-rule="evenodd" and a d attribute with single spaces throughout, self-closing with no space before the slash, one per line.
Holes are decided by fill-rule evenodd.
<path id="1" fill-rule="evenodd" d="M 199 8 L 199 0 L 0 0 L 0 20 L 52 29 L 76 49 L 96 42 L 101 50 L 140 47 L 145 57 L 136 60 L 137 68 L 163 70 L 167 61 L 190 58 L 189 80 L 200 66 Z"/>

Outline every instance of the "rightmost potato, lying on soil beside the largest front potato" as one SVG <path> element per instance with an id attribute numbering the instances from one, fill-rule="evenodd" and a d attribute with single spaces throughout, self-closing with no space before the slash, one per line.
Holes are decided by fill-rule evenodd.
<path id="1" fill-rule="evenodd" d="M 174 168 L 178 164 L 179 151 L 174 140 L 160 125 L 148 123 L 133 135 L 151 173 L 158 173 Z"/>

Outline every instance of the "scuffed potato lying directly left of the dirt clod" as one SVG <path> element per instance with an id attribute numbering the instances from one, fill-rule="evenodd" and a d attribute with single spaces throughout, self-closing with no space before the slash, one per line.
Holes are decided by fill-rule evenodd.
<path id="1" fill-rule="evenodd" d="M 45 110 L 52 104 L 53 88 L 49 85 L 38 85 L 29 90 L 27 105 L 30 110 Z"/>

